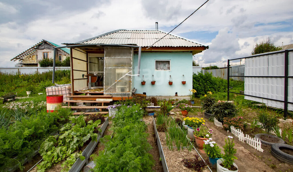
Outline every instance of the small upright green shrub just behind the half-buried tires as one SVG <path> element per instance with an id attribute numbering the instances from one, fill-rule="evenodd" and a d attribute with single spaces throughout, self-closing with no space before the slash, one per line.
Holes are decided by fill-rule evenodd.
<path id="1" fill-rule="evenodd" d="M 274 126 L 277 125 L 278 119 L 277 117 L 270 115 L 265 111 L 261 111 L 258 114 L 258 122 L 262 123 L 261 128 L 265 129 L 267 133 L 270 133 Z"/>

